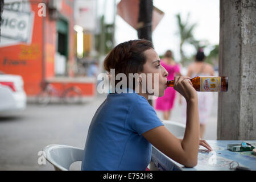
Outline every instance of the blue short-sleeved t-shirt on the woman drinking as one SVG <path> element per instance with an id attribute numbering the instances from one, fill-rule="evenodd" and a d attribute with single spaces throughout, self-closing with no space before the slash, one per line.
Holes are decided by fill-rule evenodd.
<path id="1" fill-rule="evenodd" d="M 162 125 L 134 90 L 108 94 L 90 123 L 81 170 L 146 170 L 152 146 L 142 134 Z"/>

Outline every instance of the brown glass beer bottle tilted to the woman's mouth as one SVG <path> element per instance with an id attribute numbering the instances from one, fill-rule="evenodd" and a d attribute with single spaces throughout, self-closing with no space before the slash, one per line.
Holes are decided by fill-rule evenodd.
<path id="1" fill-rule="evenodd" d="M 227 92 L 228 77 L 224 76 L 197 76 L 190 79 L 193 88 L 198 92 Z M 168 80 L 167 86 L 174 86 L 174 80 Z"/>

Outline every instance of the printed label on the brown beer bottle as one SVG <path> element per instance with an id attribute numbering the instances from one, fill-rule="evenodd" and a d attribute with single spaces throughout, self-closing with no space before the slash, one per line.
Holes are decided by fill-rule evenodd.
<path id="1" fill-rule="evenodd" d="M 221 77 L 200 77 L 201 92 L 220 92 Z"/>

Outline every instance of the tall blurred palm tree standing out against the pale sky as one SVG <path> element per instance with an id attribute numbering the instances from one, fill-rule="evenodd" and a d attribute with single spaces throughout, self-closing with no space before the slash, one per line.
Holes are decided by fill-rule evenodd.
<path id="1" fill-rule="evenodd" d="M 187 61 L 187 58 L 185 57 L 183 49 L 182 49 L 183 44 L 189 43 L 189 44 L 193 44 L 195 47 L 199 47 L 200 41 L 195 40 L 195 38 L 193 36 L 193 30 L 196 27 L 196 23 L 193 23 L 192 25 L 188 24 L 189 13 L 187 15 L 186 22 L 181 21 L 180 14 L 176 14 L 176 18 L 177 18 L 177 23 L 178 23 L 178 27 L 179 27 L 178 35 L 180 36 L 181 64 L 184 65 L 185 61 Z"/>

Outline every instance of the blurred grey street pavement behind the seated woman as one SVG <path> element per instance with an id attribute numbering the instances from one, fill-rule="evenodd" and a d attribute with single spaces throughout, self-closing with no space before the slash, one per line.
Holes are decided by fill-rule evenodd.
<path id="1" fill-rule="evenodd" d="M 53 166 L 38 164 L 38 152 L 48 144 L 65 144 L 84 148 L 90 121 L 106 95 L 99 95 L 84 105 L 49 104 L 41 107 L 28 104 L 15 117 L 0 117 L 0 170 L 54 170 Z M 205 139 L 217 139 L 217 93 Z M 171 120 L 185 123 L 181 106 L 175 102 Z M 160 119 L 162 113 L 157 112 Z M 81 162 L 71 170 L 80 170 Z"/>

